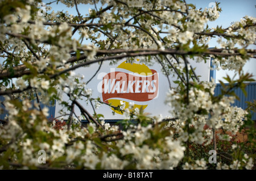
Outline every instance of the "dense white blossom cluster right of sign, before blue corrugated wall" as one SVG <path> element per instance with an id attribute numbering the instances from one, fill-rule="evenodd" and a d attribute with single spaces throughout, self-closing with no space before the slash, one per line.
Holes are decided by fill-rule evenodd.
<path id="1" fill-rule="evenodd" d="M 189 90 L 188 95 L 181 94 L 183 91 L 179 87 L 168 92 L 166 101 L 172 107 L 171 113 L 180 119 L 170 123 L 170 126 L 177 129 L 183 141 L 191 140 L 198 144 L 209 144 L 212 140 L 212 130 L 205 129 L 205 125 L 213 130 L 221 128 L 236 134 L 247 112 L 242 108 L 230 106 L 234 102 L 232 96 L 223 96 L 216 101 L 212 96 L 216 86 L 214 82 L 201 83 L 203 89 L 193 88 Z M 183 96 L 188 96 L 189 100 L 183 102 Z M 192 134 L 184 132 L 186 123 L 193 128 Z M 221 139 L 230 140 L 230 136 L 225 134 Z"/>

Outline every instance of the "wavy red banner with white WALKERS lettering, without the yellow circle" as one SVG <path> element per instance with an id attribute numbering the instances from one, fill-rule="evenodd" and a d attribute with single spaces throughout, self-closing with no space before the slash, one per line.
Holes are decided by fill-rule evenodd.
<path id="1" fill-rule="evenodd" d="M 158 95 L 158 73 L 152 70 L 151 75 L 113 71 L 102 79 L 102 99 L 123 98 L 146 102 Z"/>

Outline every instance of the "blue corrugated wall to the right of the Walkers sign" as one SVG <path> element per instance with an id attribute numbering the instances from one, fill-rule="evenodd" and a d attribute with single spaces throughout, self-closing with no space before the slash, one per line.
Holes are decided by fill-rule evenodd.
<path id="1" fill-rule="evenodd" d="M 253 102 L 256 100 L 256 82 L 249 83 L 246 88 L 247 96 L 243 94 L 241 89 L 236 89 L 234 92 L 236 95 L 240 98 L 240 100 L 235 100 L 235 102 L 232 104 L 232 106 L 241 107 L 243 110 L 247 108 L 246 102 Z M 217 83 L 217 86 L 214 90 L 214 95 L 220 95 L 221 94 L 221 84 Z M 252 112 L 253 113 L 253 112 Z M 256 113 L 253 114 L 253 120 L 256 120 Z"/>

